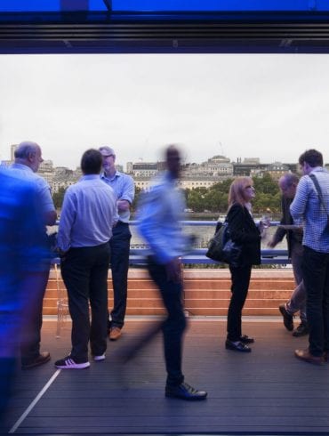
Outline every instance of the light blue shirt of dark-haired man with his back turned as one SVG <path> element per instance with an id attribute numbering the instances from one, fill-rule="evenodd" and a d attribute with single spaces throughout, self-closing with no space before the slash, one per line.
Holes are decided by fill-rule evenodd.
<path id="1" fill-rule="evenodd" d="M 98 174 L 84 175 L 65 193 L 60 214 L 58 246 L 100 246 L 112 236 L 116 195 Z"/>

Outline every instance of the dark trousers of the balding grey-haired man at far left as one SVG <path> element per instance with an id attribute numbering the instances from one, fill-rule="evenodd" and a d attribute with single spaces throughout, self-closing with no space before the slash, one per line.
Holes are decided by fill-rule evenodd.
<path id="1" fill-rule="evenodd" d="M 50 265 L 43 271 L 27 271 L 21 282 L 23 316 L 20 355 L 22 365 L 33 362 L 40 354 L 44 292 L 49 279 L 49 270 Z"/>

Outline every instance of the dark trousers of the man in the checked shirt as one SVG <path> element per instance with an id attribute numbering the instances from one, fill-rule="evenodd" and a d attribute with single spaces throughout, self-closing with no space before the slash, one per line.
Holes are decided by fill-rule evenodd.
<path id="1" fill-rule="evenodd" d="M 304 246 L 302 272 L 306 287 L 309 352 L 329 351 L 329 254 Z"/>

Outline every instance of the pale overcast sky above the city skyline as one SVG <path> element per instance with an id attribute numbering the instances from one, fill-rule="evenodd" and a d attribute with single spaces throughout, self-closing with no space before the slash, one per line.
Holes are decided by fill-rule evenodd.
<path id="1" fill-rule="evenodd" d="M 0 55 L 0 159 L 30 140 L 70 168 L 91 147 L 125 165 L 172 142 L 188 162 L 328 162 L 328 77 L 325 54 Z"/>

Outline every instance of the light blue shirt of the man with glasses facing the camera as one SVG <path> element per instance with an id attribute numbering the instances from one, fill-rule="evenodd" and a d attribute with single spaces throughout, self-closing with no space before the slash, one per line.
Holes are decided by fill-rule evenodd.
<path id="1" fill-rule="evenodd" d="M 100 174 L 100 179 L 114 190 L 117 200 L 127 200 L 132 204 L 135 196 L 135 187 L 130 175 L 116 171 L 116 174 L 112 178 L 109 178 L 105 174 Z M 119 221 L 129 222 L 129 209 L 126 211 L 118 211 L 118 215 Z"/>

